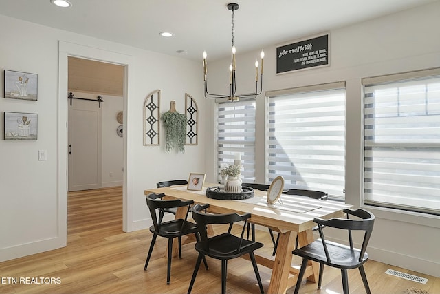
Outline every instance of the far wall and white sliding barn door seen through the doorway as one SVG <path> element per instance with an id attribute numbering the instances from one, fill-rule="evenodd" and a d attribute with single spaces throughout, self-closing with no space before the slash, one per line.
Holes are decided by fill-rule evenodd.
<path id="1" fill-rule="evenodd" d="M 124 66 L 68 61 L 68 191 L 120 186 Z"/>

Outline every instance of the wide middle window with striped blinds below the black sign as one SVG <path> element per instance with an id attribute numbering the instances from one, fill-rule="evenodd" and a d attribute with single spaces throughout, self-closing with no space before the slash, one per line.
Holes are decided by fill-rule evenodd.
<path id="1" fill-rule="evenodd" d="M 266 181 L 344 198 L 345 83 L 267 92 Z"/>

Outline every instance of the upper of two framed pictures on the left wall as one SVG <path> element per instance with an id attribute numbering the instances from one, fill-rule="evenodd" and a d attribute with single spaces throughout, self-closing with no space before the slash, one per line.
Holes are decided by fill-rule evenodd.
<path id="1" fill-rule="evenodd" d="M 38 100 L 38 75 L 5 70 L 5 98 Z"/>

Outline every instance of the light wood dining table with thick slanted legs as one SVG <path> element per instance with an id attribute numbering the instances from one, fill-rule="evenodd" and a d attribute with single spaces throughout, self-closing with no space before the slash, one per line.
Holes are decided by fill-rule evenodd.
<path id="1" fill-rule="evenodd" d="M 332 218 L 343 215 L 344 208 L 351 205 L 344 202 L 322 201 L 304 196 L 281 195 L 276 204 L 268 204 L 266 192 L 254 190 L 254 197 L 247 200 L 217 200 L 206 197 L 206 188 L 216 184 L 205 183 L 202 191 L 192 191 L 184 186 L 146 189 L 149 193 L 164 193 L 167 198 L 194 200 L 195 203 L 208 203 L 210 213 L 250 213 L 248 220 L 253 224 L 268 227 L 280 233 L 275 257 L 259 255 L 256 261 L 272 269 L 268 294 L 281 294 L 296 284 L 299 266 L 292 264 L 296 236 L 299 246 L 305 246 L 314 241 L 312 228 L 316 225 L 314 218 Z M 178 209 L 175 218 L 185 218 L 186 211 Z M 318 281 L 319 265 L 309 262 L 305 277 L 311 282 Z"/>

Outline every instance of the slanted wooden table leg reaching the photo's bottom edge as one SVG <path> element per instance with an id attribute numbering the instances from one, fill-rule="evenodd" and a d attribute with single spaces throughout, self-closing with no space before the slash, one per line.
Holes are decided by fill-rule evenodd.
<path id="1" fill-rule="evenodd" d="M 270 277 L 268 294 L 285 294 L 289 279 L 290 265 L 292 264 L 292 250 L 295 246 L 296 233 L 287 231 L 280 233 L 278 248 L 276 249 L 274 268 Z"/>

